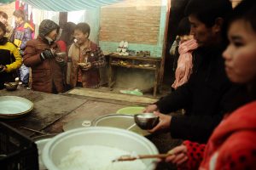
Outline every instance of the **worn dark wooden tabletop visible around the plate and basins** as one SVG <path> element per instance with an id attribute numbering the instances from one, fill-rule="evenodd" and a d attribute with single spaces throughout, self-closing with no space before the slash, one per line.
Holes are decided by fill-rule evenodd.
<path id="1" fill-rule="evenodd" d="M 61 133 L 62 126 L 70 121 L 84 119 L 92 121 L 98 116 L 115 113 L 119 109 L 127 106 L 105 101 L 96 101 L 70 96 L 68 94 L 46 94 L 20 88 L 16 91 L 0 90 L 0 96 L 20 96 L 33 102 L 34 108 L 26 116 L 15 119 L 0 119 L 1 122 L 15 127 L 20 133 L 27 137 L 42 135 L 21 127 L 32 128 L 43 131 L 44 133 Z M 166 153 L 177 144 L 180 140 L 171 138 L 170 133 L 159 133 L 149 135 L 146 138 L 151 140 L 160 153 Z M 161 162 L 157 170 L 175 169 L 164 162 Z"/>

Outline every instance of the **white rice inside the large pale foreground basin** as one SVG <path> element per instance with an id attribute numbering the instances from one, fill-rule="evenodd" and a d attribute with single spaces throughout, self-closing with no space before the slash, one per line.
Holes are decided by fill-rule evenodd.
<path id="1" fill-rule="evenodd" d="M 61 159 L 58 167 L 61 170 L 145 170 L 147 168 L 141 160 L 112 162 L 119 156 L 125 155 L 130 156 L 131 153 L 102 145 L 74 146 L 68 150 L 67 156 Z"/>

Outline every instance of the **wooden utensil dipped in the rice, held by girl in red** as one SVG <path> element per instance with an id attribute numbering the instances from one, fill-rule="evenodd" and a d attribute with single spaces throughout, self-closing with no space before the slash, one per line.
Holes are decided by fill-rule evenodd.
<path id="1" fill-rule="evenodd" d="M 149 159 L 149 158 L 165 159 L 167 156 L 172 156 L 172 154 L 167 153 L 167 154 L 156 154 L 156 155 L 120 156 L 119 158 L 113 160 L 112 162 L 115 162 L 115 161 L 134 161 L 134 160 L 137 160 L 137 159 Z"/>

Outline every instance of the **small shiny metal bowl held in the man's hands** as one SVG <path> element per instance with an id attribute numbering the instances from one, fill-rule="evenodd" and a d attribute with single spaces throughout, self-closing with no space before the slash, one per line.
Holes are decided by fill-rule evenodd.
<path id="1" fill-rule="evenodd" d="M 142 113 L 134 115 L 134 121 L 138 127 L 142 129 L 152 129 L 159 122 L 159 116 L 155 116 L 154 113 Z"/>

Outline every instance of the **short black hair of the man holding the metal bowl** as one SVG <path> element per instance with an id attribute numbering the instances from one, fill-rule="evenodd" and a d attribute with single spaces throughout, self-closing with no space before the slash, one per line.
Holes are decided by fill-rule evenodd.
<path id="1" fill-rule="evenodd" d="M 185 8 L 185 14 L 193 14 L 207 27 L 212 27 L 216 19 L 223 18 L 232 11 L 230 0 L 190 0 Z"/>

